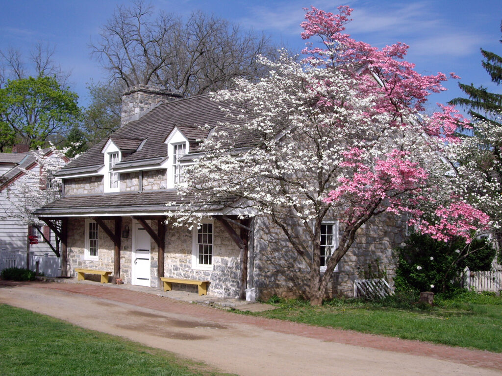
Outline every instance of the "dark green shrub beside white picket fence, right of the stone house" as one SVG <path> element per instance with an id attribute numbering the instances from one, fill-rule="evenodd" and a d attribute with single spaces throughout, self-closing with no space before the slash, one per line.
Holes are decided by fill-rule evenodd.
<path id="1" fill-rule="evenodd" d="M 450 291 L 452 281 L 465 266 L 471 270 L 489 270 L 495 250 L 485 240 L 462 239 L 448 243 L 413 233 L 408 243 L 396 250 L 398 268 L 394 283 L 398 291 Z"/>

